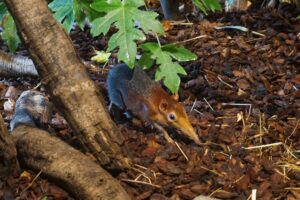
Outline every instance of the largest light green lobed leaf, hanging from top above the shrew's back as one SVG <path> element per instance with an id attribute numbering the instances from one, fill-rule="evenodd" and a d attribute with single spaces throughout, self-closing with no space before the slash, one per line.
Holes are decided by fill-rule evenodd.
<path id="1" fill-rule="evenodd" d="M 164 34 L 163 28 L 155 18 L 157 14 L 151 11 L 142 11 L 138 8 L 144 5 L 144 0 L 95 0 L 91 8 L 106 15 L 92 22 L 93 36 L 107 34 L 111 26 L 118 31 L 112 35 L 108 42 L 108 50 L 119 49 L 118 59 L 130 67 L 134 66 L 137 53 L 136 41 L 146 39 L 144 33 L 135 27 L 140 22 L 144 32 L 155 31 Z"/>

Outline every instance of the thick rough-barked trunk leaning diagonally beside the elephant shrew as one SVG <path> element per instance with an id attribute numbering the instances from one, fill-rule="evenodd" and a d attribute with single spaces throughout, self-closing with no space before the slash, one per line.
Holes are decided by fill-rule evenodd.
<path id="1" fill-rule="evenodd" d="M 5 0 L 52 101 L 85 145 L 107 168 L 129 167 L 123 138 L 73 44 L 45 0 Z"/>

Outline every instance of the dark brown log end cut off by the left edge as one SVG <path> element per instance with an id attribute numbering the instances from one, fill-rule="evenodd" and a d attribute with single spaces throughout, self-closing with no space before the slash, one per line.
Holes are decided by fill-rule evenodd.
<path id="1" fill-rule="evenodd" d="M 15 144 L 0 115 L 0 176 L 17 174 L 19 170 Z"/>

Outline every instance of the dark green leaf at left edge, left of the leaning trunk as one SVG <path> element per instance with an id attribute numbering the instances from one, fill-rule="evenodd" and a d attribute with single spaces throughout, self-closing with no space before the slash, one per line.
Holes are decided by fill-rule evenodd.
<path id="1" fill-rule="evenodd" d="M 15 52 L 20 44 L 20 38 L 12 16 L 7 14 L 6 17 L 6 20 L 3 22 L 4 31 L 2 32 L 2 39 L 7 44 L 9 50 Z"/>

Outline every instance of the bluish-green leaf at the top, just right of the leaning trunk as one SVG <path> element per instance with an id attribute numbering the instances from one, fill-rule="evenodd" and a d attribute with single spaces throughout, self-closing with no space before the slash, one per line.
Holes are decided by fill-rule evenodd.
<path id="1" fill-rule="evenodd" d="M 75 20 L 72 0 L 54 0 L 48 6 L 54 12 L 54 18 L 69 33 Z"/>

